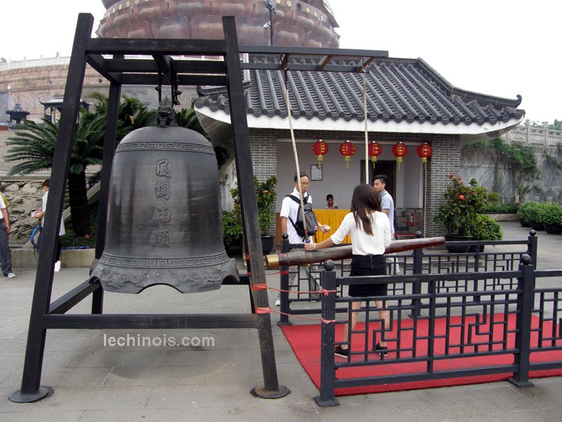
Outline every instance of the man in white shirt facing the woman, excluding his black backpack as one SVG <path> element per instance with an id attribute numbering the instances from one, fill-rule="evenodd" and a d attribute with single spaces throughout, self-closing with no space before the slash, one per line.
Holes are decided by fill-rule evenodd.
<path id="1" fill-rule="evenodd" d="M 303 200 L 306 199 L 306 203 L 312 204 L 312 197 L 308 195 L 308 186 L 310 185 L 308 176 L 306 175 L 305 172 L 301 172 L 300 176 L 301 176 L 300 184 L 301 184 L 301 191 L 303 193 Z M 297 178 L 295 174 L 294 189 L 291 195 L 294 196 L 295 198 L 300 199 L 301 194 L 299 193 L 299 184 L 297 182 L 298 180 L 299 178 Z M 299 236 L 299 234 L 296 233 L 296 229 L 294 228 L 293 222 L 296 223 L 296 219 L 299 214 L 300 207 L 301 206 L 298 203 L 296 203 L 296 201 L 294 201 L 292 198 L 290 198 L 289 196 L 285 196 L 285 198 L 283 198 L 283 202 L 281 205 L 281 212 L 279 213 L 281 217 L 282 234 L 288 234 L 289 243 L 292 244 L 312 242 L 312 236 L 308 236 L 308 238 L 303 238 L 303 236 Z M 318 222 L 318 230 L 325 233 L 326 231 L 329 230 L 329 228 Z M 289 273 L 289 286 L 294 284 L 297 269 L 298 267 L 291 267 L 289 269 L 289 271 L 291 271 Z M 310 268 L 308 266 L 305 266 L 304 270 L 306 271 L 306 276 L 308 277 L 309 291 L 318 290 L 318 287 L 320 286 L 320 281 L 318 279 L 313 279 L 313 277 L 311 277 Z M 291 288 L 289 287 L 289 290 L 290 289 Z M 277 295 L 277 300 L 275 300 L 275 306 L 281 305 L 280 297 L 281 297 L 281 293 Z M 316 294 L 316 295 L 311 295 L 311 297 L 318 299 L 320 296 Z"/>

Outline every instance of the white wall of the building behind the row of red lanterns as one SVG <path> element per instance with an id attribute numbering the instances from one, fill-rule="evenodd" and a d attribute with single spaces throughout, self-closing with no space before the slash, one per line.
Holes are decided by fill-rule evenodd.
<path id="1" fill-rule="evenodd" d="M 316 139 L 298 140 L 297 154 L 301 172 L 311 174 L 311 165 L 318 164 L 318 158 L 312 152 Z M 328 193 L 334 195 L 334 201 L 340 209 L 348 209 L 351 203 L 353 188 L 365 181 L 360 180 L 360 163 L 365 157 L 362 143 L 355 143 L 355 155 L 351 157 L 349 168 L 346 169 L 345 158 L 339 153 L 341 141 L 324 140 L 329 145 L 329 151 L 322 161 L 322 181 L 311 180 L 310 193 L 314 206 L 323 208 L 326 205 Z M 383 153 L 378 160 L 394 160 L 391 153 L 392 144 L 381 143 Z M 424 167 L 421 158 L 416 154 L 417 145 L 407 145 L 408 155 L 403 158 L 400 170 L 396 170 L 396 198 L 395 207 L 423 207 L 423 175 Z M 431 159 L 430 159 L 431 160 Z M 371 161 L 369 161 L 369 165 Z M 292 143 L 287 139 L 277 141 L 277 212 L 281 209 L 281 202 L 285 195 L 291 193 L 294 187 L 293 177 L 296 172 Z"/>

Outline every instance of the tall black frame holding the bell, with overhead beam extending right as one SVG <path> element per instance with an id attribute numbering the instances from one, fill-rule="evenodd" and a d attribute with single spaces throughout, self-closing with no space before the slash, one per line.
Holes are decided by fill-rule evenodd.
<path id="1" fill-rule="evenodd" d="M 171 86 L 173 100 L 178 86 L 222 86 L 228 89 L 230 124 L 233 134 L 238 186 L 240 188 L 242 226 L 247 241 L 248 274 L 240 276 L 241 285 L 249 286 L 251 309 L 254 305 L 268 307 L 267 290 L 252 290 L 251 286 L 266 284 L 261 252 L 258 211 L 254 191 L 254 172 L 251 165 L 248 124 L 242 70 L 281 70 L 304 72 L 363 72 L 375 58 L 388 57 L 388 51 L 313 49 L 303 47 L 263 47 L 237 44 L 235 19 L 223 17 L 224 40 L 194 39 L 104 39 L 91 38 L 93 16 L 80 13 L 74 34 L 74 46 L 68 68 L 65 100 L 59 122 L 55 147 L 51 188 L 46 207 L 46 222 L 41 241 L 41 252 L 35 278 L 30 326 L 21 389 L 10 396 L 13 402 L 34 402 L 51 391 L 41 387 L 46 331 L 48 329 L 100 328 L 256 328 L 259 334 L 263 386 L 254 389 L 259 397 L 278 398 L 289 390 L 277 381 L 275 350 L 271 332 L 270 314 L 103 314 L 103 289 L 97 279 L 89 279 L 51 302 L 55 242 L 63 212 L 67 172 L 70 166 L 72 139 L 80 107 L 80 95 L 86 64 L 91 65 L 110 82 L 105 130 L 103 166 L 98 205 L 98 236 L 96 259 L 103 253 L 109 195 L 110 174 L 115 153 L 117 113 L 121 87 L 127 84 Z M 240 63 L 240 53 L 277 55 L 280 60 L 263 63 Z M 124 55 L 152 56 L 152 60 L 125 59 Z M 110 55 L 112 58 L 104 58 Z M 220 60 L 174 60 L 171 56 L 222 56 Z M 289 63 L 290 56 L 314 57 L 315 60 L 297 60 Z M 351 58 L 358 64 L 337 63 L 337 58 Z M 159 96 L 162 94 L 159 90 Z M 251 276 L 249 276 L 251 270 Z M 91 314 L 65 314 L 81 300 L 92 295 Z"/>

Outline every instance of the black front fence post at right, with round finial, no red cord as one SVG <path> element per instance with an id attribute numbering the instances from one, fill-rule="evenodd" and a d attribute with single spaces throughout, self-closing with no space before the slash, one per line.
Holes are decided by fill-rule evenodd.
<path id="1" fill-rule="evenodd" d="M 532 265 L 532 257 L 521 257 L 519 271 L 523 271 L 523 277 L 518 279 L 518 290 L 521 290 L 521 293 L 517 298 L 515 334 L 515 348 L 519 351 L 515 355 L 515 364 L 518 369 L 508 381 L 519 388 L 525 388 L 533 385 L 529 381 L 531 312 L 535 302 L 535 267 Z"/>

